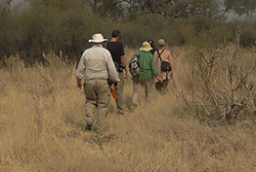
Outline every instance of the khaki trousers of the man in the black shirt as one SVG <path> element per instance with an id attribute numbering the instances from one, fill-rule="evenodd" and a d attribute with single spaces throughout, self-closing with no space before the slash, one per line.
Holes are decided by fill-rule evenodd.
<path id="1" fill-rule="evenodd" d="M 116 102 L 117 112 L 120 114 L 123 114 L 123 87 L 125 82 L 124 72 L 118 72 L 118 76 L 120 79 L 120 83 L 119 83 L 120 88 L 119 89 L 114 88 L 114 91 L 117 95 L 117 99 L 115 100 L 115 102 Z"/>

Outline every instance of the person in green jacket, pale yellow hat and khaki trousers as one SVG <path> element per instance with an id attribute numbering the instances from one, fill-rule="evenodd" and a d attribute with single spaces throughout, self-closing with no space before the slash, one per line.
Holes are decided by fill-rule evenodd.
<path id="1" fill-rule="evenodd" d="M 138 107 L 138 99 L 145 88 L 146 101 L 149 101 L 152 95 L 152 89 L 154 85 L 154 78 L 156 78 L 160 83 L 162 79 L 159 77 L 157 68 L 155 65 L 154 57 L 150 53 L 152 48 L 149 42 L 144 42 L 140 48 L 140 52 L 137 53 L 139 57 L 139 62 L 141 64 L 141 73 L 139 76 L 132 77 L 133 80 L 133 94 L 132 94 L 132 106 L 131 110 Z M 133 55 L 130 62 L 134 59 L 136 54 Z"/>

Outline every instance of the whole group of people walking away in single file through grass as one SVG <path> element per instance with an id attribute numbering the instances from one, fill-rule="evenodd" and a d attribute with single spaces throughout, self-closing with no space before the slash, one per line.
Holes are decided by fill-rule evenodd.
<path id="1" fill-rule="evenodd" d="M 118 115 L 124 115 L 123 110 L 123 88 L 125 79 L 128 78 L 128 65 L 124 58 L 123 45 L 119 42 L 121 32 L 118 29 L 112 31 L 111 39 L 107 39 L 101 33 L 94 34 L 89 43 L 92 47 L 85 50 L 80 58 L 76 82 L 77 87 L 82 88 L 84 78 L 84 93 L 86 96 L 86 128 L 102 127 L 107 118 L 111 94 L 109 87 L 113 84 L 117 98 L 116 108 Z M 157 42 L 159 49 L 155 49 L 151 40 L 145 41 L 140 52 L 134 54 L 130 60 L 140 56 L 141 73 L 133 76 L 133 94 L 131 110 L 138 107 L 138 100 L 145 88 L 146 101 L 149 101 L 154 86 L 160 93 L 165 94 L 167 90 L 169 73 L 173 76 L 173 70 L 163 71 L 162 62 L 172 68 L 171 52 L 165 50 L 165 41 Z M 110 82 L 109 82 L 110 81 Z M 110 83 L 110 84 L 109 84 Z M 97 114 L 97 118 L 95 118 Z"/>

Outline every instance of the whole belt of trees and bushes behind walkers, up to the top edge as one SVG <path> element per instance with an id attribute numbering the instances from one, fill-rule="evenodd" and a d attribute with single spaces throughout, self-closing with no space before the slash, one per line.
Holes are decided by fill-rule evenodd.
<path id="1" fill-rule="evenodd" d="M 0 1 L 0 60 L 20 53 L 31 63 L 43 52 L 79 56 L 96 32 L 122 30 L 122 42 L 137 48 L 160 37 L 172 46 L 218 45 L 235 41 L 234 23 L 225 23 L 219 0 L 15 0 Z M 253 0 L 225 0 L 225 10 L 255 11 Z M 241 26 L 240 43 L 255 43 L 255 24 Z M 197 42 L 196 42 L 197 41 Z M 201 44 L 201 42 L 203 43 Z"/>

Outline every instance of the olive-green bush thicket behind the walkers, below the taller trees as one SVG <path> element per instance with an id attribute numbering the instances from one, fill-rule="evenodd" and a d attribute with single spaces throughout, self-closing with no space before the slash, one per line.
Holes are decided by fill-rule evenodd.
<path id="1" fill-rule="evenodd" d="M 34 63 L 45 60 L 44 52 L 61 51 L 68 59 L 76 60 L 90 47 L 88 39 L 92 34 L 101 32 L 110 39 L 115 28 L 122 32 L 123 45 L 133 49 L 138 49 L 145 40 L 157 42 L 160 38 L 165 39 L 169 46 L 192 45 L 210 49 L 220 44 L 235 43 L 235 25 L 238 24 L 204 16 L 171 20 L 158 14 L 139 17 L 139 12 L 134 14 L 134 19 L 107 20 L 107 17 L 89 10 L 88 4 L 82 1 L 29 2 L 30 6 L 22 13 L 1 14 L 0 60 L 19 53 L 25 63 Z M 124 18 L 131 17 L 129 12 L 124 13 L 127 13 Z M 243 23 L 240 44 L 251 46 L 255 38 L 254 24 Z"/>

